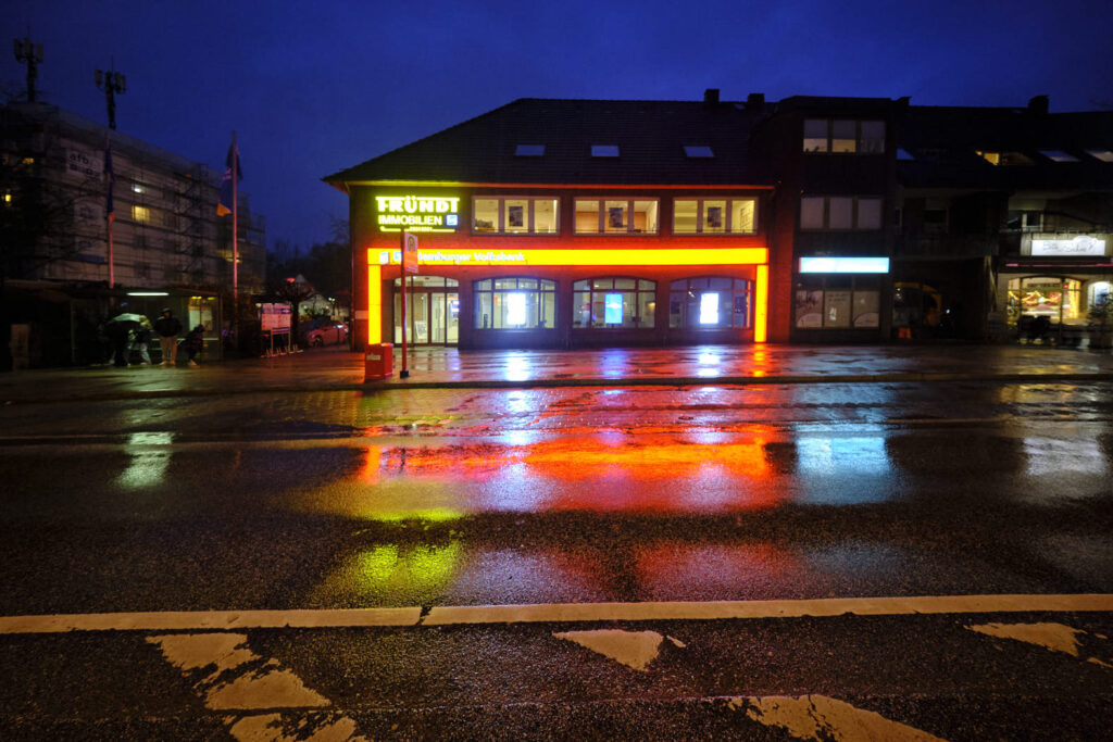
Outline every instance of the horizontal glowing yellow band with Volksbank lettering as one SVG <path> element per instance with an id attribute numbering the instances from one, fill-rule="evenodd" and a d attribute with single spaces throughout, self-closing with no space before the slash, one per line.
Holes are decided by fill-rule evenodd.
<path id="1" fill-rule="evenodd" d="M 370 265 L 397 265 L 398 250 L 368 250 Z M 423 266 L 746 266 L 765 265 L 768 250 L 764 247 L 669 248 L 659 250 L 598 249 L 460 249 L 417 250 Z"/>

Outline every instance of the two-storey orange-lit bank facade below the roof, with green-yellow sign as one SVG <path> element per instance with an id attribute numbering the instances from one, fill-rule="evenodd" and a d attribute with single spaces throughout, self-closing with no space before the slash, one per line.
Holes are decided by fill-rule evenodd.
<path id="1" fill-rule="evenodd" d="M 407 278 L 406 315 L 416 345 L 764 343 L 767 192 L 353 185 L 355 340 L 401 340 L 402 234 L 412 230 L 418 271 Z M 392 202 L 394 210 L 383 209 Z M 456 210 L 437 214 L 439 202 Z M 745 222 L 742 207 L 733 221 L 725 214 L 732 204 L 745 207 Z M 707 234 L 679 214 L 693 205 L 705 211 Z M 484 207 L 492 218 L 483 218 Z M 501 224 L 489 226 L 495 219 Z"/>

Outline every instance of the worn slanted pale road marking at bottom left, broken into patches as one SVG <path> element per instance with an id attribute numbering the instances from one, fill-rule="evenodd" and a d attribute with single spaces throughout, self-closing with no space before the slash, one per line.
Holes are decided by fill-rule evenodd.
<path id="1" fill-rule="evenodd" d="M 306 687 L 292 671 L 282 669 L 277 660 L 264 661 L 255 654 L 247 646 L 246 634 L 162 634 L 148 636 L 147 642 L 161 650 L 162 656 L 187 677 L 195 676 L 194 691 L 206 706 L 247 712 L 225 718 L 228 732 L 240 742 L 363 739 L 353 736 L 355 722 L 339 714 L 303 718 L 295 735 L 286 735 L 283 715 L 273 713 L 275 709 L 322 709 L 333 704 Z M 211 672 L 196 679 L 194 671 L 209 667 Z M 257 710 L 272 713 L 250 713 Z"/>

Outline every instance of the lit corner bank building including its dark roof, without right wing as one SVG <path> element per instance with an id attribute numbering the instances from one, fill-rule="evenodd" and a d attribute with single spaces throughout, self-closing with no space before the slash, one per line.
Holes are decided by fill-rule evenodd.
<path id="1" fill-rule="evenodd" d="M 630 117 L 624 136 L 652 141 L 611 144 L 612 109 Z M 769 286 L 774 189 L 751 179 L 738 136 L 761 115 L 520 100 L 326 178 L 349 198 L 356 347 L 402 339 L 404 233 L 418 240 L 405 278 L 414 345 L 775 339 L 770 317 L 788 303 Z"/>

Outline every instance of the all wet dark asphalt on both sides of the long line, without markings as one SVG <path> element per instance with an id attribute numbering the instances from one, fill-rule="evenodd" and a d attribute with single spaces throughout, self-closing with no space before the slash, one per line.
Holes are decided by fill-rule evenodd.
<path id="1" fill-rule="evenodd" d="M 0 408 L 0 613 L 1113 593 L 1100 379 L 114 397 Z M 944 739 L 1100 739 L 1113 671 L 965 629 L 995 620 L 622 626 L 692 647 L 648 675 L 568 626 L 249 641 L 368 738 L 789 739 L 725 699 L 824 693 Z M 0 657 L 11 739 L 228 733 L 135 634 Z"/>

